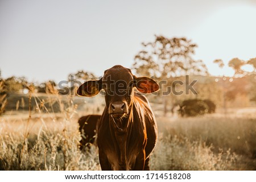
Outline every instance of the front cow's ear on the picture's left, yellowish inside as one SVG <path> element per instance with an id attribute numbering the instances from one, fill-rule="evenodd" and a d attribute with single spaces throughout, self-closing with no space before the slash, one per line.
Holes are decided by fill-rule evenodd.
<path id="1" fill-rule="evenodd" d="M 100 80 L 90 80 L 84 82 L 77 89 L 77 95 L 82 97 L 93 97 L 96 96 L 102 89 L 102 82 Z"/>

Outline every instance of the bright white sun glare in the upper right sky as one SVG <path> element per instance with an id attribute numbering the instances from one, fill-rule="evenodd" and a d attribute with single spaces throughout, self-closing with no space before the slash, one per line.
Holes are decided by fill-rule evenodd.
<path id="1" fill-rule="evenodd" d="M 256 7 L 232 6 L 216 11 L 206 18 L 194 32 L 200 59 L 208 65 L 209 72 L 221 75 L 220 69 L 212 62 L 222 59 L 225 63 L 223 73 L 232 76 L 228 61 L 234 57 L 249 60 L 255 57 Z M 251 68 L 244 68 L 250 71 Z"/>

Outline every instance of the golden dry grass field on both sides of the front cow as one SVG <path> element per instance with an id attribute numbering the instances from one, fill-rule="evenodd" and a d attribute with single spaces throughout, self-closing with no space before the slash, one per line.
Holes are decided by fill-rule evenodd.
<path id="1" fill-rule="evenodd" d="M 100 170 L 97 148 L 81 152 L 78 147 L 81 136 L 77 119 L 101 113 L 102 105 L 70 103 L 58 113 L 40 112 L 38 108 L 3 115 L 0 169 Z M 159 138 L 150 159 L 151 169 L 256 170 L 254 111 L 236 109 L 228 115 L 218 112 L 197 118 L 162 117 L 158 112 Z"/>

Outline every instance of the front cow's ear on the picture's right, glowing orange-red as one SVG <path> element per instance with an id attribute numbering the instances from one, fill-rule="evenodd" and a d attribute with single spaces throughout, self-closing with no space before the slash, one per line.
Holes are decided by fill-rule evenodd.
<path id="1" fill-rule="evenodd" d="M 159 90 L 159 85 L 155 80 L 148 78 L 148 77 L 135 77 L 135 87 L 141 93 L 152 93 Z"/>

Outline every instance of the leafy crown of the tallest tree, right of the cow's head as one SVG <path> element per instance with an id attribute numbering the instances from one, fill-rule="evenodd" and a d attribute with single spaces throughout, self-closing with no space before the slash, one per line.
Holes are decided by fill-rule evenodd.
<path id="1" fill-rule="evenodd" d="M 157 78 L 184 75 L 205 75 L 207 68 L 202 60 L 194 60 L 196 44 L 187 38 L 166 38 L 155 35 L 155 41 L 142 43 L 143 49 L 134 58 L 137 73 Z"/>

